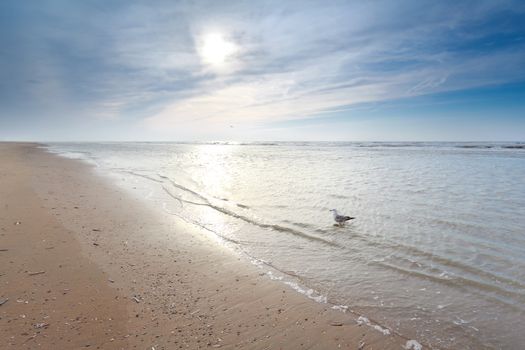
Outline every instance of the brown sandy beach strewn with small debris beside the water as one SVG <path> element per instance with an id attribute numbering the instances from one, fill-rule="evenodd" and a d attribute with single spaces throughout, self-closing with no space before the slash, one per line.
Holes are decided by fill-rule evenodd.
<path id="1" fill-rule="evenodd" d="M 0 143 L 0 349 L 402 349 L 34 144 Z"/>

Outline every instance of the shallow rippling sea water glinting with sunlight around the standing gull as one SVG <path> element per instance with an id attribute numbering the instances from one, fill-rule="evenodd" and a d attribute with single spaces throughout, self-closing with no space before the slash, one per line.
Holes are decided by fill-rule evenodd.
<path id="1" fill-rule="evenodd" d="M 384 333 L 439 349 L 523 348 L 525 144 L 48 148 Z M 336 227 L 333 208 L 356 219 Z"/>

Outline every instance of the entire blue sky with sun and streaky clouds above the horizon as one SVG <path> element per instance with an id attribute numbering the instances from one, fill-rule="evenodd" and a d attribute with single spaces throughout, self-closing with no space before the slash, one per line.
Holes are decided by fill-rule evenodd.
<path id="1" fill-rule="evenodd" d="M 525 2 L 0 2 L 0 140 L 525 141 Z"/>

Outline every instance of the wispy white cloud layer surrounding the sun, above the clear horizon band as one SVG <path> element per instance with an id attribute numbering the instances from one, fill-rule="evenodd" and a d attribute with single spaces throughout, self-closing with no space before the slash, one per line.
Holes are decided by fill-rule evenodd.
<path id="1" fill-rule="evenodd" d="M 525 79 L 519 1 L 1 6 L 0 118 L 211 130 Z M 224 70 L 199 56 L 217 32 L 236 47 Z"/>

